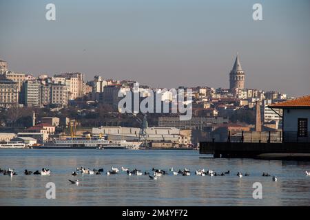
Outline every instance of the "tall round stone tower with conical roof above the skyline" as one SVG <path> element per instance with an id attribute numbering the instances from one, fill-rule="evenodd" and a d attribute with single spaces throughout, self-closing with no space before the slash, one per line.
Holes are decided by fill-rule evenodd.
<path id="1" fill-rule="evenodd" d="M 244 89 L 245 88 L 245 72 L 242 70 L 239 55 L 237 53 L 236 61 L 233 69 L 229 73 L 229 89 Z"/>

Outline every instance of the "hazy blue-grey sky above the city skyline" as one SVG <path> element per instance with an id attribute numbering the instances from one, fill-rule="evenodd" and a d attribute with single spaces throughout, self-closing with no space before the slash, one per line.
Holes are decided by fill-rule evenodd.
<path id="1" fill-rule="evenodd" d="M 84 72 L 152 87 L 245 87 L 310 94 L 310 1 L 0 0 L 0 58 L 14 72 Z M 45 5 L 56 5 L 56 21 Z M 252 19 L 262 4 L 263 21 Z"/>

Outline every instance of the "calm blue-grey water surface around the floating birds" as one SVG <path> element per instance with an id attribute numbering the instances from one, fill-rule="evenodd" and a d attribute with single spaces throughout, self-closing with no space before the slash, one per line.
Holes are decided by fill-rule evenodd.
<path id="1" fill-rule="evenodd" d="M 111 166 L 150 170 L 189 168 L 191 176 L 77 175 L 76 167 Z M 0 149 L 0 168 L 14 168 L 18 175 L 0 174 L 1 206 L 309 206 L 309 162 L 285 162 L 255 159 L 213 159 L 198 151 L 127 150 L 50 150 Z M 50 176 L 24 175 L 23 170 L 49 168 Z M 195 176 L 205 168 L 224 177 Z M 250 173 L 239 179 L 236 173 Z M 262 172 L 277 175 L 278 181 L 262 177 Z M 105 173 L 105 172 L 104 172 Z M 79 186 L 68 179 L 79 179 Z M 45 184 L 54 182 L 56 199 L 46 199 Z M 262 184 L 262 199 L 253 199 L 254 182 Z"/>

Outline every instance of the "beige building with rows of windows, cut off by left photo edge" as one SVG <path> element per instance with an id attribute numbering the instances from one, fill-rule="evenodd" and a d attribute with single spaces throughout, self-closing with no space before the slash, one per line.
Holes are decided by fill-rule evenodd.
<path id="1" fill-rule="evenodd" d="M 0 107 L 10 107 L 18 104 L 19 88 L 13 80 L 0 78 Z"/>

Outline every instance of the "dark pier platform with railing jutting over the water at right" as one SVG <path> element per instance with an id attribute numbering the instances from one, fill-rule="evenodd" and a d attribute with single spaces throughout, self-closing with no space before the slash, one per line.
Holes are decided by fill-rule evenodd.
<path id="1" fill-rule="evenodd" d="M 222 158 L 310 160 L 310 133 L 229 132 L 227 142 L 200 142 L 199 152 Z"/>

